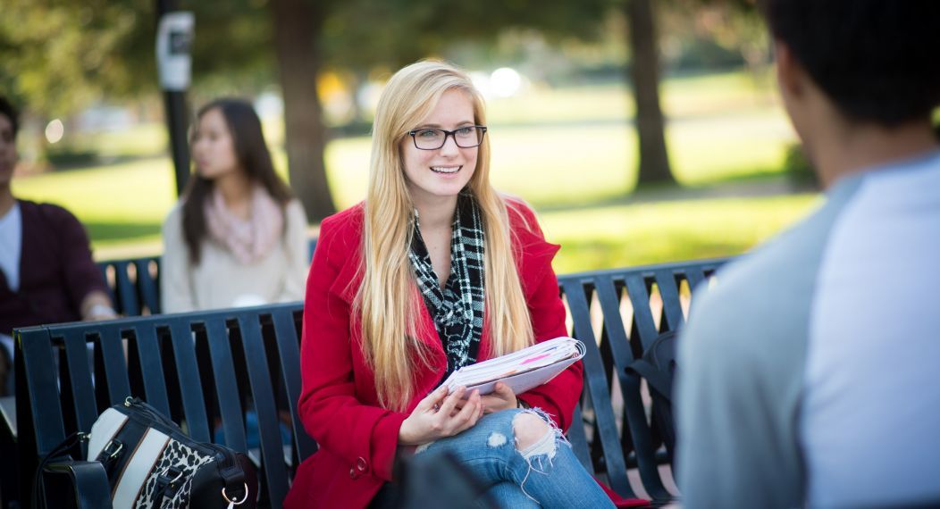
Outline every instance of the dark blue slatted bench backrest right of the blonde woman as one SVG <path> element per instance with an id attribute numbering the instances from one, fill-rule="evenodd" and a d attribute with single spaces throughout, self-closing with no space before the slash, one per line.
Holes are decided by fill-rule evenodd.
<path id="1" fill-rule="evenodd" d="M 727 259 L 603 270 L 565 275 L 558 285 L 572 320 L 572 336 L 587 346 L 585 388 L 569 431 L 572 447 L 588 471 L 605 477 L 620 495 L 635 497 L 627 470 L 655 501 L 671 498 L 659 465 L 665 450 L 655 440 L 645 384 L 626 367 L 661 332 L 687 316 L 693 290 Z M 699 290 L 700 291 L 700 290 Z M 618 422 L 622 425 L 618 425 Z M 587 437 L 586 431 L 590 432 Z"/>

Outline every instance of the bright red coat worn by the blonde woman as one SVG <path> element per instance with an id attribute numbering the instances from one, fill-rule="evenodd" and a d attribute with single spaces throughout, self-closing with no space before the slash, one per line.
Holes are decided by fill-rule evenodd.
<path id="1" fill-rule="evenodd" d="M 558 246 L 545 241 L 529 208 L 517 202 L 510 202 L 509 207 L 518 211 L 509 211 L 509 225 L 536 341 L 567 335 L 565 310 L 552 270 Z M 525 227 L 520 214 L 535 231 Z M 285 507 L 365 507 L 392 477 L 399 427 L 409 413 L 379 407 L 373 373 L 361 351 L 359 319 L 351 315 L 352 299 L 361 282 L 357 268 L 363 219 L 360 204 L 321 224 L 306 284 L 301 342 L 304 384 L 299 404 L 301 421 L 320 450 L 298 468 Z M 444 348 L 424 307 L 421 319 L 427 332 L 421 340 L 433 348 L 433 369 L 417 374 L 409 412 L 446 371 Z M 478 360 L 490 355 L 490 338 L 484 330 Z M 575 362 L 521 399 L 544 409 L 556 424 L 568 429 L 581 385 L 582 365 Z"/>

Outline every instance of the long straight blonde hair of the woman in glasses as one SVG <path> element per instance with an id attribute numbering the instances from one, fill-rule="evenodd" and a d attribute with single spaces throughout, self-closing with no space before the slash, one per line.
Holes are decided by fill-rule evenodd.
<path id="1" fill-rule="evenodd" d="M 363 353 L 385 408 L 405 409 L 415 396 L 415 370 L 431 365 L 430 350 L 419 339 L 421 333 L 429 333 L 420 329 L 424 303 L 408 259 L 415 205 L 404 174 L 402 142 L 407 131 L 431 115 L 441 96 L 453 89 L 471 98 L 475 122 L 486 125 L 483 99 L 466 73 L 444 62 L 421 61 L 400 69 L 385 85 L 372 127 L 363 279 L 355 310 L 362 317 Z M 488 137 L 478 147 L 469 187 L 486 236 L 484 329 L 489 327 L 493 355 L 502 355 L 531 345 L 533 332 L 510 239 L 509 213 L 519 212 L 507 208 L 490 184 Z"/>

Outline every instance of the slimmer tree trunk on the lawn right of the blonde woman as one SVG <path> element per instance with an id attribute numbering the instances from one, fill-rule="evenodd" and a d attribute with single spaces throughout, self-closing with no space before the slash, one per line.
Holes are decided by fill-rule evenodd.
<path id="1" fill-rule="evenodd" d="M 659 103 L 659 44 L 652 0 L 627 0 L 633 62 L 630 79 L 636 102 L 639 140 L 638 184 L 675 182 L 666 152 L 666 120 Z"/>

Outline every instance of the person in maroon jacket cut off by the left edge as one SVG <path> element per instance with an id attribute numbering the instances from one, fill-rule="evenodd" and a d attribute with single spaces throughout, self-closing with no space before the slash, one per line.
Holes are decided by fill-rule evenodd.
<path id="1" fill-rule="evenodd" d="M 0 97 L 0 394 L 12 390 L 14 328 L 115 316 L 82 224 L 13 196 L 17 131 L 17 111 Z"/>

